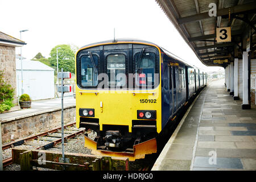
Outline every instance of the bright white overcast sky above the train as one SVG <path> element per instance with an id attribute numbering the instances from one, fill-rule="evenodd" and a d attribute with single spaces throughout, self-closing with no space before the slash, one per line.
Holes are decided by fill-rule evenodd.
<path id="1" fill-rule="evenodd" d="M 206 67 L 185 43 L 155 0 L 0 0 L 0 31 L 27 44 L 22 55 L 32 59 L 38 52 L 49 57 L 59 44 L 77 47 L 114 38 L 147 40 L 181 59 Z M 16 54 L 20 48 L 16 48 Z"/>

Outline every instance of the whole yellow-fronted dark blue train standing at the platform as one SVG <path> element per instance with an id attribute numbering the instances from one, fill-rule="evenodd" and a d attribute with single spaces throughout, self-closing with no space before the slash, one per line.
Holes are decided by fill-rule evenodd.
<path id="1" fill-rule="evenodd" d="M 144 40 L 92 43 L 76 52 L 76 126 L 92 154 L 142 159 L 207 85 L 207 72 Z"/>

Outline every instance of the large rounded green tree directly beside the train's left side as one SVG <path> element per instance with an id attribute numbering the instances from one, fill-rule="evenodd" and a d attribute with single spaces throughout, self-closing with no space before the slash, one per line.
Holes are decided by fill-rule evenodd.
<path id="1" fill-rule="evenodd" d="M 57 47 L 60 47 L 60 49 L 58 49 L 59 72 L 61 68 L 63 68 L 64 72 L 75 73 L 75 53 L 69 45 L 62 44 L 52 48 L 50 53 L 51 57 L 49 57 L 50 64 L 55 68 L 57 67 Z"/>

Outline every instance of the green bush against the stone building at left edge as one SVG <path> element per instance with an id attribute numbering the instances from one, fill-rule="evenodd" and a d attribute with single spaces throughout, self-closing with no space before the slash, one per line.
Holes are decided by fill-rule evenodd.
<path id="1" fill-rule="evenodd" d="M 0 113 L 10 110 L 14 106 L 13 97 L 15 89 L 5 82 L 3 74 L 3 71 L 0 71 Z"/>

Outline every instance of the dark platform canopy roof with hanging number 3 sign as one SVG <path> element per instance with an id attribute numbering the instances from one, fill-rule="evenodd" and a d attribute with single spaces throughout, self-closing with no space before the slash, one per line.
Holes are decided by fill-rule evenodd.
<path id="1" fill-rule="evenodd" d="M 255 0 L 155 1 L 203 64 L 225 68 L 234 57 L 242 57 L 248 42 L 255 57 Z M 246 42 L 248 34 L 251 39 Z"/>

